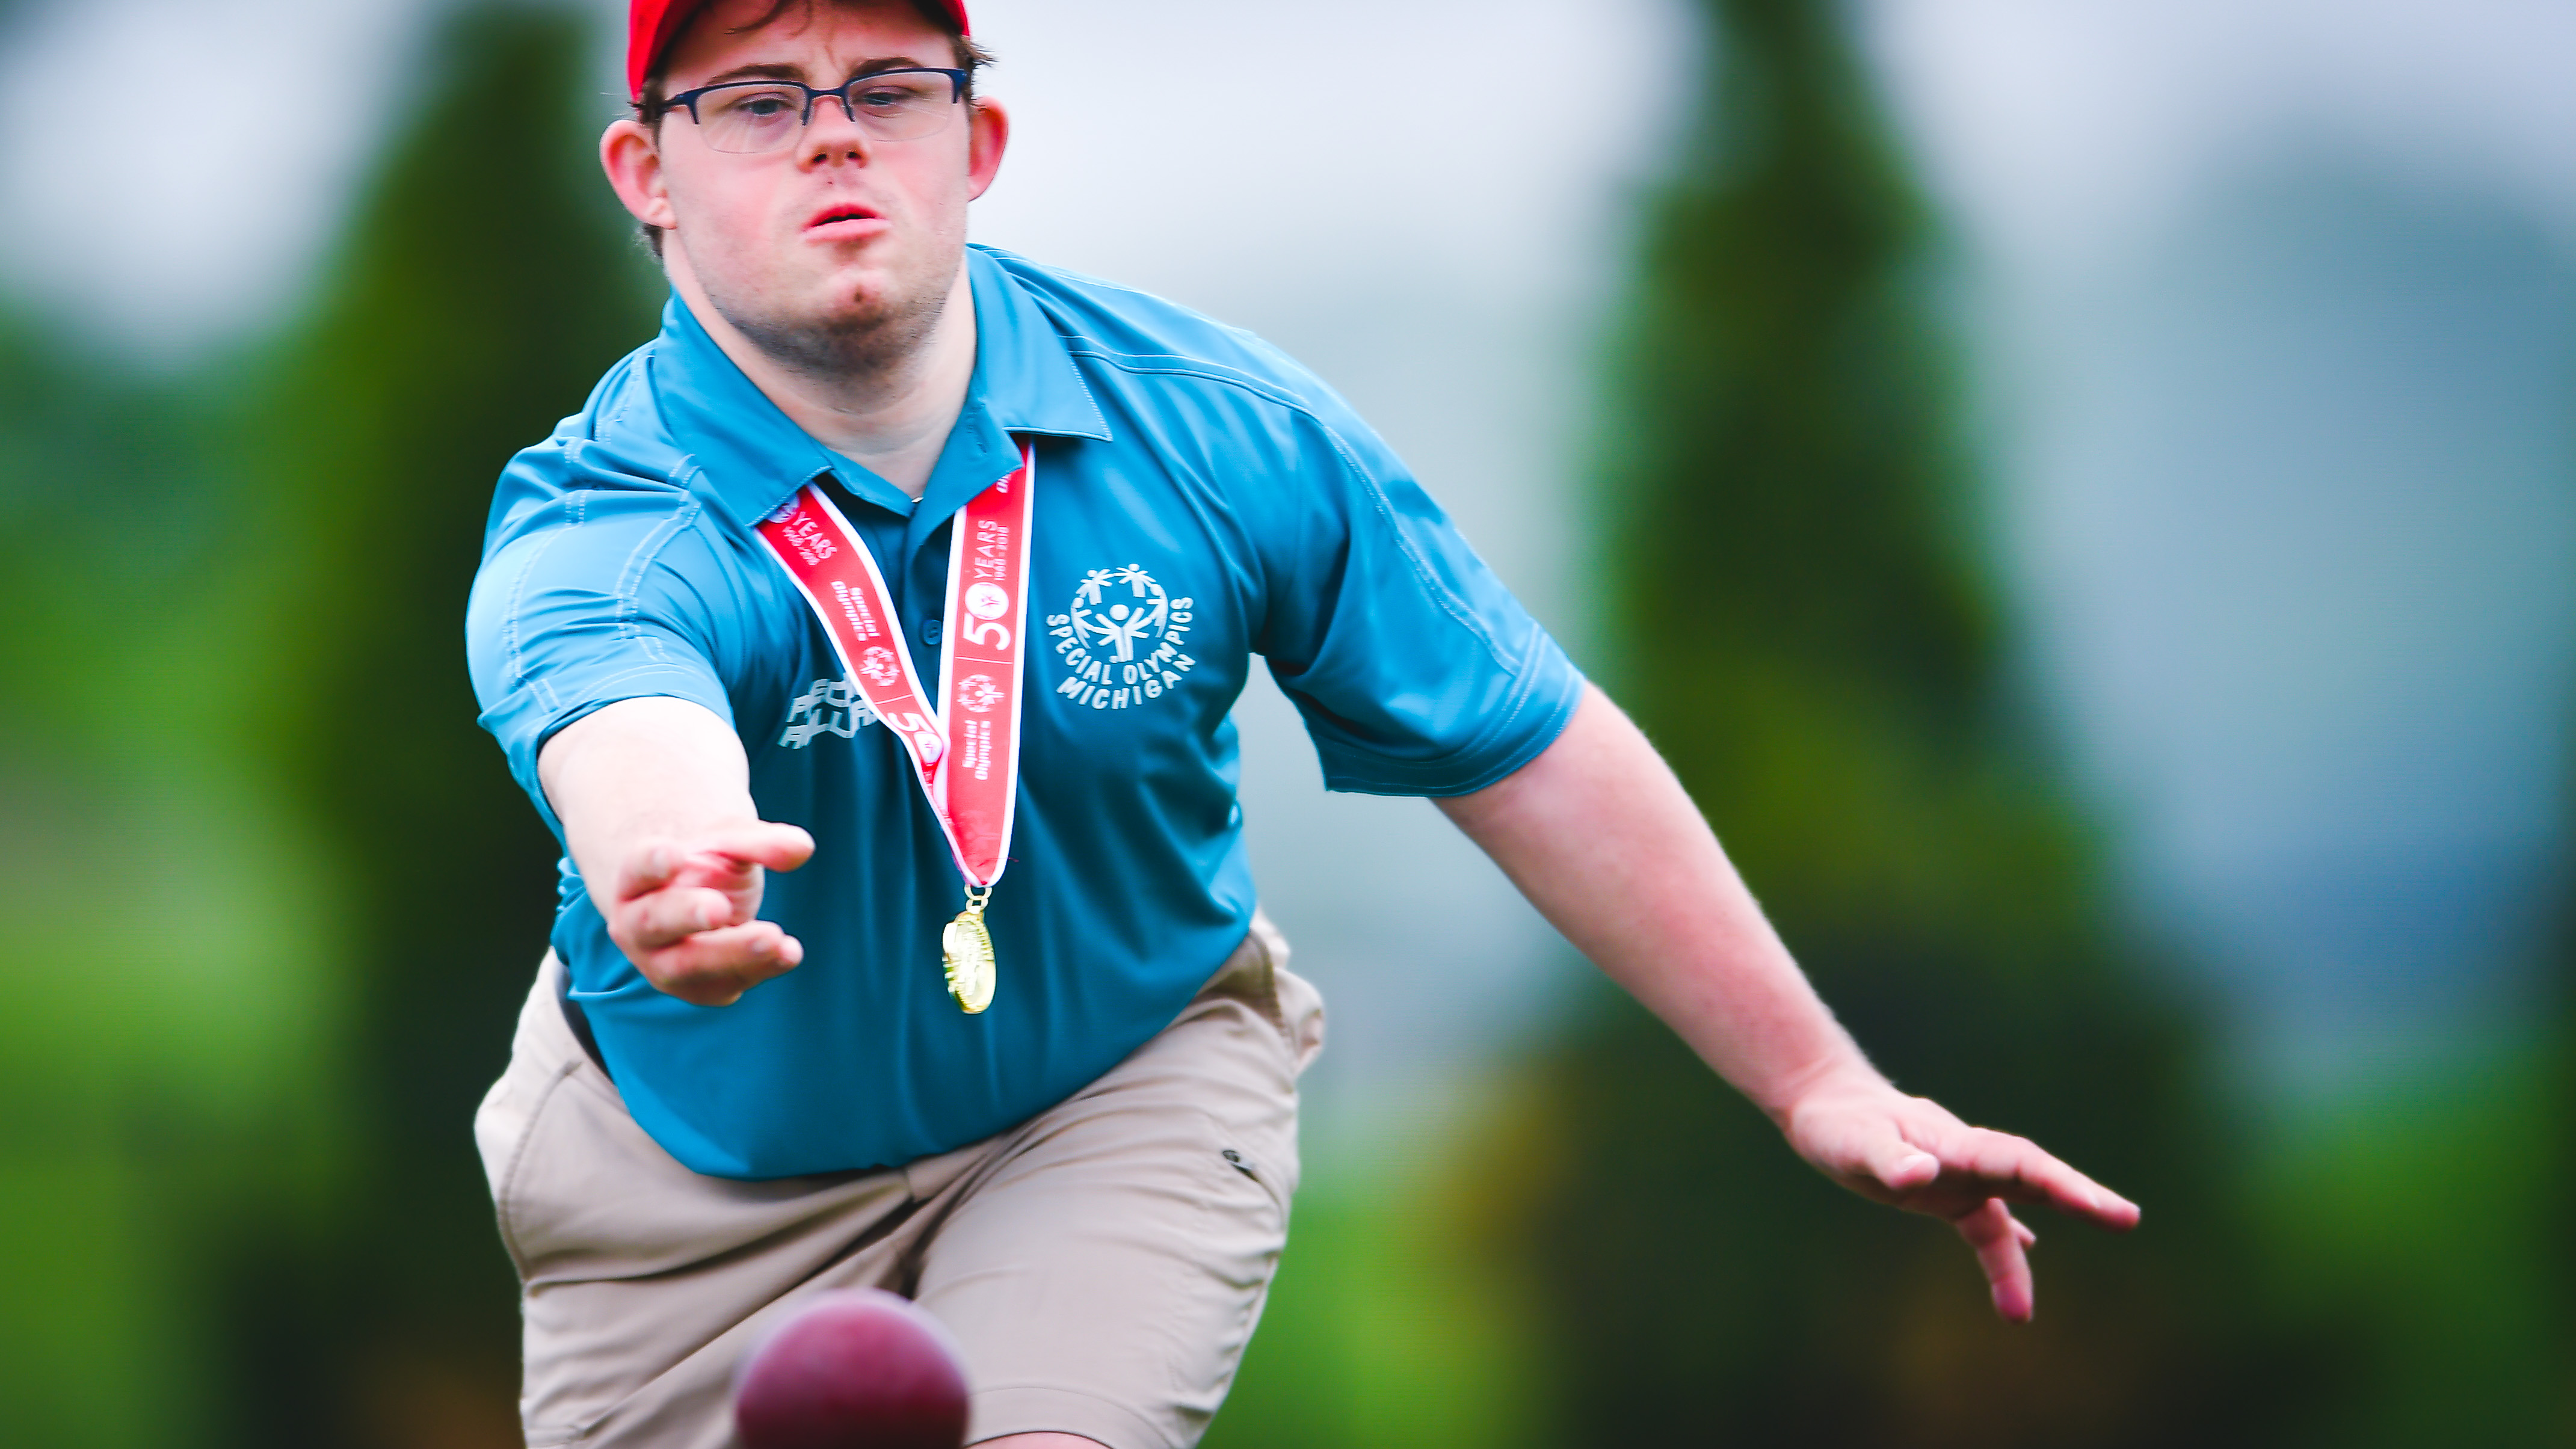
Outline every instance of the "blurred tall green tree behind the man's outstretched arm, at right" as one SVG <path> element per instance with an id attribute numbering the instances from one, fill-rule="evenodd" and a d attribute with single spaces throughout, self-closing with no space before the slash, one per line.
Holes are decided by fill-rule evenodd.
<path id="1" fill-rule="evenodd" d="M 2306 1369 L 2254 1328 L 2182 993 L 2143 975 L 2017 710 L 1937 234 L 1832 0 L 1708 0 L 1600 479 L 1623 703 L 1909 1091 L 2138 1197 L 2032 1225 L 2040 1323 L 1955 1238 L 1847 1199 L 1602 991 L 1525 1107 L 1558 1444 L 2259 1441 Z M 2282 1413 L 2287 1413 L 2282 1408 Z"/>

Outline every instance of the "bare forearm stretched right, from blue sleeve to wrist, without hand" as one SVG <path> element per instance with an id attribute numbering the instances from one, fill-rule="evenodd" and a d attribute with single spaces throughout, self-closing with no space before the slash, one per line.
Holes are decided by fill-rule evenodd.
<path id="1" fill-rule="evenodd" d="M 1577 950 L 1775 1120 L 1803 1086 L 1868 1071 L 1680 780 L 1600 690 L 1528 767 L 1440 808 Z"/>

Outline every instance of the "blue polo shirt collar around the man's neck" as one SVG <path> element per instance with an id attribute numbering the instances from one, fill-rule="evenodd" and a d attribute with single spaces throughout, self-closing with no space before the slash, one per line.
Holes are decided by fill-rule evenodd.
<path id="1" fill-rule="evenodd" d="M 1028 288 L 984 247 L 966 250 L 966 281 L 974 296 L 976 360 L 956 430 L 1108 443 L 1100 404 Z M 876 481 L 778 412 L 716 347 L 680 293 L 662 306 L 662 345 L 654 353 L 654 391 L 672 445 L 696 458 L 701 486 L 744 525 L 765 517 L 817 474 L 832 474 L 853 492 L 863 486 L 863 476 Z M 963 502 L 925 494 L 922 512 L 945 504 L 938 515 L 945 517 Z"/>

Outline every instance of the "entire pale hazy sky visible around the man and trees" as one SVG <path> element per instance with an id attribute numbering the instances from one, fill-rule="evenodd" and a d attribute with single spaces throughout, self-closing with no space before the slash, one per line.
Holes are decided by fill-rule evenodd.
<path id="1" fill-rule="evenodd" d="M 152 365 L 255 335 L 312 281 L 428 13 L 0 8 L 0 275 Z M 1958 239 L 2030 682 L 2146 911 L 2215 963 L 2251 1055 L 2334 1066 L 2509 1014 L 2568 744 L 2576 5 L 1857 15 Z M 1592 363 L 1690 10 L 976 21 L 1020 126 L 979 239 L 1306 358 L 1582 651 Z M 598 75 L 605 121 L 605 46 Z M 100 77 L 160 85 L 100 106 Z M 1430 808 L 1324 798 L 1267 685 L 1244 734 L 1265 896 L 1340 1006 L 1316 1091 L 1350 1125 L 1401 1117 L 1569 968 Z"/>

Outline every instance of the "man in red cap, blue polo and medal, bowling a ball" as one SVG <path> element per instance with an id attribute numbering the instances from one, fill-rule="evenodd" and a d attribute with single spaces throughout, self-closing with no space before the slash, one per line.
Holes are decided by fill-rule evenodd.
<path id="1" fill-rule="evenodd" d="M 1193 1444 L 1285 1241 L 1321 1004 L 1255 911 L 1252 656 L 1340 790 L 1432 795 L 1844 1186 L 2128 1228 L 1880 1078 L 1610 700 L 1314 376 L 966 247 L 961 0 L 636 0 L 608 180 L 662 335 L 502 476 L 469 638 L 564 839 L 477 1138 L 531 1444 L 716 1446 L 827 1287 L 945 1320 L 974 1441 Z M 989 1006 L 989 1009 L 987 1009 Z"/>

